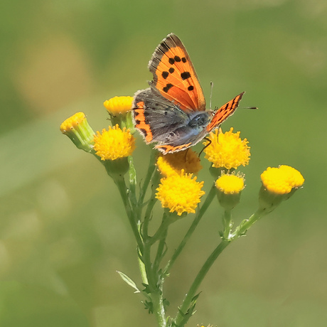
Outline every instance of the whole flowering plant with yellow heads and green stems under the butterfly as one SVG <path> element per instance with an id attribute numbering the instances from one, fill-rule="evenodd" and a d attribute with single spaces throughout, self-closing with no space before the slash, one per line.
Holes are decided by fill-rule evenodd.
<path id="1" fill-rule="evenodd" d="M 237 169 L 247 166 L 250 162 L 250 146 L 247 139 L 241 139 L 240 132 L 235 133 L 232 128 L 225 133 L 222 129 L 215 129 L 209 134 L 208 139 L 205 139 L 203 151 L 205 159 L 208 160 L 207 165 L 210 164 L 210 173 L 214 176 L 210 178 L 211 188 L 208 192 L 203 191 L 205 182 L 201 181 L 203 166 L 200 155 L 193 149 L 166 155 L 159 155 L 154 150 L 149 159 L 144 159 L 149 167 L 145 178 L 138 183 L 133 158 L 136 145 L 131 114 L 132 101 L 132 97 L 113 97 L 104 102 L 112 126 L 102 129 L 102 132 L 95 133 L 82 112 L 77 112 L 66 119 L 60 130 L 77 148 L 94 155 L 117 185 L 136 240 L 146 309 L 157 315 L 160 326 L 166 326 L 167 321 L 169 326 L 183 327 L 195 312 L 197 289 L 208 272 L 208 267 L 211 267 L 230 242 L 245 235 L 257 220 L 271 213 L 283 200 L 287 200 L 301 188 L 304 178 L 299 171 L 290 166 L 268 167 L 261 174 L 262 187 L 259 190 L 257 210 L 250 218 L 243 219 L 235 227 L 232 212 L 240 203 L 242 191 L 245 189 L 245 174 Z M 146 119 L 145 115 L 143 118 Z M 195 176 L 197 174 L 198 176 Z M 191 289 L 186 293 L 183 304 L 178 308 L 176 318 L 166 318 L 167 301 L 162 297 L 164 281 L 215 198 L 223 208 L 222 230 L 218 235 L 221 242 L 200 269 Z M 149 225 L 154 220 L 156 203 L 161 204 L 164 213 L 158 229 L 153 235 L 149 235 Z M 159 206 L 158 208 L 160 209 Z M 171 259 L 167 260 L 168 264 L 163 267 L 162 260 L 168 247 L 166 245 L 168 226 L 177 218 L 189 214 L 194 215 L 193 223 Z M 119 274 L 136 292 L 140 292 L 132 279 L 122 272 Z"/>

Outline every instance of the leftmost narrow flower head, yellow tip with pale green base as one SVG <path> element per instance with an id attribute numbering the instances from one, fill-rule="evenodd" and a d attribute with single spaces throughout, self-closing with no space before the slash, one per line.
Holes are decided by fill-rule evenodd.
<path id="1" fill-rule="evenodd" d="M 95 132 L 87 122 L 83 112 L 77 112 L 60 125 L 60 131 L 67 135 L 77 146 L 87 152 L 92 151 L 93 136 Z"/>

